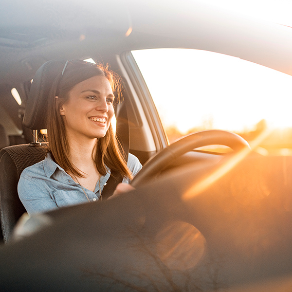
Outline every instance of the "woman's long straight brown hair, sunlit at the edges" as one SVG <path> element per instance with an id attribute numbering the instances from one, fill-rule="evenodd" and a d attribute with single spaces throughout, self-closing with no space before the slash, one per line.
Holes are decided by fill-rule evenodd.
<path id="1" fill-rule="evenodd" d="M 69 171 L 78 177 L 84 177 L 84 175 L 70 161 L 70 147 L 66 137 L 65 124 L 59 109 L 68 100 L 69 93 L 76 84 L 93 76 L 105 76 L 110 81 L 112 91 L 120 98 L 120 77 L 112 72 L 108 65 L 96 65 L 81 60 L 68 62 L 62 74 L 60 73 L 56 77 L 48 98 L 47 131 L 50 152 L 57 164 L 65 171 Z M 55 98 L 55 96 L 58 96 L 58 98 Z M 105 175 L 107 173 L 106 166 L 108 166 L 111 170 L 119 171 L 123 176 L 132 179 L 132 174 L 124 157 L 123 149 L 110 125 L 106 135 L 102 138 L 97 138 L 96 145 L 92 151 L 92 159 L 100 174 Z"/>

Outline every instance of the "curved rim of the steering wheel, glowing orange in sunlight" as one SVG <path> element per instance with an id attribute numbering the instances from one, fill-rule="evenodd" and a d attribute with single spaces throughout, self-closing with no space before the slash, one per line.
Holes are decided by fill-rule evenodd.
<path id="1" fill-rule="evenodd" d="M 134 177 L 131 185 L 137 187 L 148 182 L 155 175 L 160 173 L 173 160 L 184 153 L 195 148 L 209 145 L 224 145 L 239 151 L 250 146 L 246 140 L 239 135 L 223 130 L 207 130 L 184 136 L 175 143 L 167 146 L 154 155 L 144 164 L 143 168 Z"/>

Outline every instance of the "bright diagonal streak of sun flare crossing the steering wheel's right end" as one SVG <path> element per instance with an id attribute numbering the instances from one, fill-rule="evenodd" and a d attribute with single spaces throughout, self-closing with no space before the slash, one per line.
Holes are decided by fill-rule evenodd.
<path id="1" fill-rule="evenodd" d="M 221 177 L 223 177 L 226 173 L 228 173 L 231 169 L 233 169 L 239 162 L 241 162 L 250 152 L 255 149 L 270 133 L 270 130 L 267 128 L 262 131 L 261 134 L 258 135 L 256 139 L 254 139 L 249 148 L 244 148 L 241 151 L 234 154 L 227 162 L 221 164 L 219 168 L 213 171 L 206 178 L 203 178 L 200 182 L 195 183 L 189 190 L 187 190 L 183 194 L 183 200 L 190 200 L 195 196 L 199 195 L 206 188 L 211 186 L 213 183 L 218 181 Z"/>

